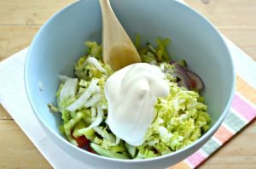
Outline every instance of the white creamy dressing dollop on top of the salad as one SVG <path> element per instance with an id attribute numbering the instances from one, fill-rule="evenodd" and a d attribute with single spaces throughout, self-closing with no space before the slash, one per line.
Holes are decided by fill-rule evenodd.
<path id="1" fill-rule="evenodd" d="M 168 93 L 165 74 L 156 65 L 137 63 L 116 71 L 105 83 L 110 130 L 128 144 L 143 144 L 154 104 Z"/>

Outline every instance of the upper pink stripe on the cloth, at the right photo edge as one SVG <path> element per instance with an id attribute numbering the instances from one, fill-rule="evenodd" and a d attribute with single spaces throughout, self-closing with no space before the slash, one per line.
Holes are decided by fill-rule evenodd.
<path id="1" fill-rule="evenodd" d="M 247 119 L 247 121 L 252 121 L 256 116 L 256 110 L 252 105 L 245 102 L 237 94 L 235 95 L 231 107 L 237 111 L 240 115 Z"/>

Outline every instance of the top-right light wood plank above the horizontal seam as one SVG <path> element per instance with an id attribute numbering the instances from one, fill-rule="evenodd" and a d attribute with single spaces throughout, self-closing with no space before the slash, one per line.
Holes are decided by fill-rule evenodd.
<path id="1" fill-rule="evenodd" d="M 218 26 L 256 26 L 255 0 L 184 0 Z"/>

